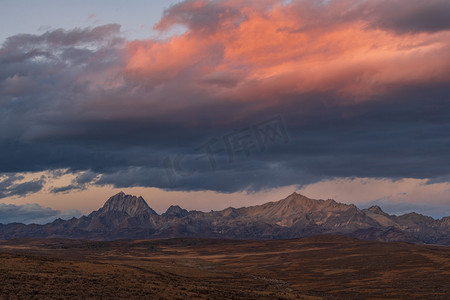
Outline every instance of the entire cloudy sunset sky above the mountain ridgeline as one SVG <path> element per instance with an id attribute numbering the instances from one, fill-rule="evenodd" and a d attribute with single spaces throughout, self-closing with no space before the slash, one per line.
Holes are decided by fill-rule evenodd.
<path id="1" fill-rule="evenodd" d="M 0 223 L 119 191 L 450 215 L 449 1 L 132 4 L 0 4 Z"/>

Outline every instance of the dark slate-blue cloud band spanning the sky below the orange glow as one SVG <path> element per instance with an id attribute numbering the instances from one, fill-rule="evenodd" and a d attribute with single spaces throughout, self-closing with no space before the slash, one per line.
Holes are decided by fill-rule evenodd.
<path id="1" fill-rule="evenodd" d="M 404 87 L 384 95 L 384 100 L 346 107 L 333 106 L 333 95 L 296 95 L 286 97 L 282 106 L 248 112 L 234 124 L 224 122 L 214 129 L 216 120 L 205 117 L 198 119 L 195 128 L 183 128 L 184 119 L 196 115 L 216 119 L 220 115 L 233 116 L 230 107 L 229 113 L 220 109 L 216 113 L 213 105 L 206 105 L 173 115 L 171 120 L 179 122 L 173 127 L 165 126 L 165 120 L 98 123 L 92 124 L 92 130 L 85 135 L 64 137 L 60 142 L 6 144 L 0 160 L 9 172 L 40 168 L 91 170 L 102 174 L 94 184 L 179 190 L 231 192 L 346 176 L 434 178 L 448 175 L 450 169 L 449 94 L 444 86 Z M 302 100 L 301 104 L 297 99 Z M 196 160 L 199 153 L 194 150 L 205 140 L 216 137 L 220 141 L 224 134 L 251 126 L 274 112 L 286 121 L 289 144 L 275 144 L 264 153 L 253 151 L 250 157 L 231 164 L 224 153 L 217 154 L 216 170 L 211 169 L 206 158 Z M 197 172 L 178 176 L 170 185 L 163 159 L 174 159 L 179 153 L 186 155 L 183 163 L 189 164 L 185 168 Z M 72 183 L 65 190 L 77 186 Z"/>

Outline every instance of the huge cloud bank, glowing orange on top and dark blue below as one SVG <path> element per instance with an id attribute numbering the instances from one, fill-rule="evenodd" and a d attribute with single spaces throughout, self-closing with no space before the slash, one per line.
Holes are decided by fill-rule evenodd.
<path id="1" fill-rule="evenodd" d="M 346 176 L 450 176 L 448 41 L 411 38 L 417 49 L 401 52 L 406 42 L 395 40 L 448 29 L 447 4 L 293 1 L 271 14 L 269 1 L 261 3 L 177 4 L 157 28 L 188 31 L 164 41 L 127 42 L 118 25 L 9 38 L 0 48 L 0 172 L 82 172 L 54 193 L 94 184 L 234 192 Z M 258 26 L 267 26 L 264 35 L 247 31 Z M 349 37 L 350 29 L 359 31 Z M 303 34 L 307 46 L 297 43 Z M 374 36 L 391 52 L 368 49 Z M 273 116 L 283 118 L 288 143 L 256 145 L 249 155 L 233 149 L 232 162 L 222 149 L 215 167 L 196 150 L 213 138 L 224 148 L 224 136 Z M 168 175 L 165 159 L 181 153 L 183 169 Z M 22 179 L 0 182 L 2 197 L 42 188 Z"/>

